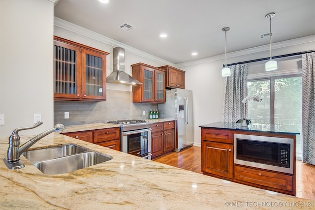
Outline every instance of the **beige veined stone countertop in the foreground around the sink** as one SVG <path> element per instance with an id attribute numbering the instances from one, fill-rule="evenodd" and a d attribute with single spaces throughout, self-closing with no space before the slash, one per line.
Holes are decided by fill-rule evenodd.
<path id="1" fill-rule="evenodd" d="M 21 144 L 33 136 L 21 136 Z M 32 148 L 74 143 L 113 159 L 60 175 L 45 175 L 21 156 L 9 170 L 8 138 L 0 139 L 0 207 L 12 209 L 314 209 L 312 200 L 226 182 L 52 133 Z M 312 206 L 313 205 L 313 206 Z"/>

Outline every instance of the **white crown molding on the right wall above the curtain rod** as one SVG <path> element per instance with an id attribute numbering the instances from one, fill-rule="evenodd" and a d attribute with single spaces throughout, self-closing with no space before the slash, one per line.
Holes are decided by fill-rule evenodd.
<path id="1" fill-rule="evenodd" d="M 291 39 L 291 40 L 286 40 L 282 42 L 277 42 L 272 44 L 273 49 L 279 49 L 279 48 L 284 48 L 284 47 L 289 47 L 289 46 L 294 46 L 298 44 L 304 44 L 304 43 L 310 43 L 310 42 L 315 42 L 315 35 L 311 36 L 305 36 L 301 38 L 296 38 L 296 39 Z M 270 49 L 270 45 L 262 45 L 258 47 L 253 47 L 253 48 L 248 48 L 245 50 L 240 50 L 240 51 L 235 51 L 235 52 L 230 52 L 226 54 L 227 58 L 233 58 L 233 57 L 239 57 L 239 56 L 245 56 L 253 53 L 259 53 L 263 51 L 268 51 Z M 189 62 L 183 62 L 183 63 L 178 63 L 176 64 L 175 67 L 180 68 L 184 66 L 190 66 L 190 65 L 196 65 L 196 64 L 201 64 L 205 62 L 212 62 L 216 60 L 222 60 L 225 59 L 225 54 L 221 54 L 218 56 L 213 56 L 205 59 L 199 59 L 199 60 L 192 60 Z"/>

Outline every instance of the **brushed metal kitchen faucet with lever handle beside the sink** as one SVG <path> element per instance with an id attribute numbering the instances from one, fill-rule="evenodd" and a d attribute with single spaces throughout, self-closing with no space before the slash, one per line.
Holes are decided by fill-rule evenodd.
<path id="1" fill-rule="evenodd" d="M 28 150 L 33 144 L 35 144 L 37 141 L 42 139 L 43 137 L 47 136 L 48 134 L 52 132 L 58 132 L 64 130 L 63 124 L 55 124 L 55 126 L 49 130 L 46 130 L 37 136 L 30 139 L 28 142 L 24 143 L 20 147 L 20 136 L 18 135 L 18 132 L 21 130 L 28 130 L 35 127 L 38 127 L 39 125 L 43 124 L 43 122 L 38 121 L 36 124 L 30 127 L 23 127 L 23 128 L 16 128 L 13 130 L 11 136 L 9 137 L 9 148 L 7 151 L 7 158 L 4 158 L 3 161 L 5 165 L 9 169 L 20 169 L 24 168 L 25 165 L 20 160 L 20 155 Z"/>

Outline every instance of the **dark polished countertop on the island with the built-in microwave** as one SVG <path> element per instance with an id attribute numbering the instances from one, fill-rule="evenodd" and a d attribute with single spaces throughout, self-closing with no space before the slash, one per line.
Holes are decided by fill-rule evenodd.
<path id="1" fill-rule="evenodd" d="M 205 125 L 200 125 L 202 128 L 219 128 L 229 130 L 244 130 L 257 132 L 272 132 L 283 134 L 300 134 L 300 131 L 295 125 L 273 125 L 273 124 L 255 124 L 252 123 L 249 127 L 242 127 L 240 123 L 234 122 L 213 122 Z"/>

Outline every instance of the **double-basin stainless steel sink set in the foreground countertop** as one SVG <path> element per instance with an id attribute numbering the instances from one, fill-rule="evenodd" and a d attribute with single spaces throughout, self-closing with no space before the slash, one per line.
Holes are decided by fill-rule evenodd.
<path id="1" fill-rule="evenodd" d="M 63 174 L 111 160 L 106 154 L 66 144 L 51 148 L 28 150 L 23 154 L 44 174 Z"/>

